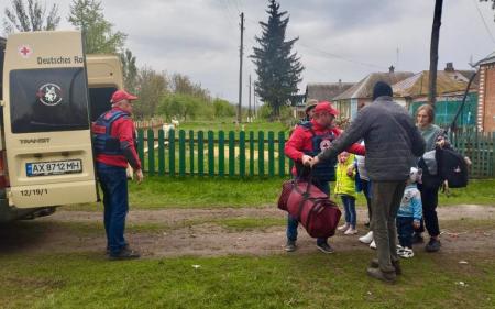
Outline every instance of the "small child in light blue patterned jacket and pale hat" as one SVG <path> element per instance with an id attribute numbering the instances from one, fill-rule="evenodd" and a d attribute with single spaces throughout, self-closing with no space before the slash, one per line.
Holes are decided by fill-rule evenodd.
<path id="1" fill-rule="evenodd" d="M 420 179 L 420 170 L 411 167 L 404 197 L 400 201 L 400 208 L 397 212 L 396 224 L 399 239 L 397 254 L 405 258 L 415 256 L 413 252 L 413 234 L 415 229 L 419 228 L 422 217 L 421 194 L 416 186 L 416 183 Z"/>

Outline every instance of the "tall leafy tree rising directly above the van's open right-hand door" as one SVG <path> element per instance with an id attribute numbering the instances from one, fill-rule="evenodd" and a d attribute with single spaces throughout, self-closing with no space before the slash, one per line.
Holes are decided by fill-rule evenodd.
<path id="1" fill-rule="evenodd" d="M 113 32 L 113 24 L 103 15 L 101 1 L 73 0 L 68 21 L 82 31 L 86 53 L 118 54 L 123 48 L 127 34 Z"/>

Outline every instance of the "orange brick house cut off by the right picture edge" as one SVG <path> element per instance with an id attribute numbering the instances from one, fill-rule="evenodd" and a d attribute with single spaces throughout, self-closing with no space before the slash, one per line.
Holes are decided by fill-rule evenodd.
<path id="1" fill-rule="evenodd" d="M 476 124 L 480 131 L 495 132 L 495 52 L 476 66 L 480 66 Z"/>

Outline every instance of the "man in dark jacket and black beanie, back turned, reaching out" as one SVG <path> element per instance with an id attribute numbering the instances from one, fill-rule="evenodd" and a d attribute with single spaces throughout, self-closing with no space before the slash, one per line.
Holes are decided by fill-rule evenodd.
<path id="1" fill-rule="evenodd" d="M 364 139 L 366 169 L 372 186 L 371 228 L 377 247 L 367 274 L 395 282 L 400 274 L 396 252 L 395 219 L 406 187 L 414 157 L 425 152 L 425 140 L 407 111 L 393 101 L 392 88 L 378 81 L 373 89 L 373 103 L 364 107 L 350 128 L 332 145 L 314 157 L 311 165 L 327 161 Z"/>

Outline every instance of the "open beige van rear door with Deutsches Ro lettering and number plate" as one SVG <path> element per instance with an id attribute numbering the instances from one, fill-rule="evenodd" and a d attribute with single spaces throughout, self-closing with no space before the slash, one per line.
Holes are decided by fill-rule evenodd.
<path id="1" fill-rule="evenodd" d="M 80 32 L 30 32 L 7 40 L 3 120 L 18 208 L 97 200 Z"/>

